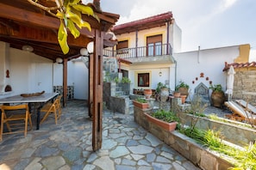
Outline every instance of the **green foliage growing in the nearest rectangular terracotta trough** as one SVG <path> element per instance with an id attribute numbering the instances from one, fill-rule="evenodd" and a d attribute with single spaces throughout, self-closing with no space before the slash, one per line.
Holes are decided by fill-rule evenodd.
<path id="1" fill-rule="evenodd" d="M 152 116 L 153 116 L 153 118 L 159 118 L 160 120 L 163 120 L 163 121 L 169 122 L 169 123 L 179 121 L 176 114 L 171 111 L 158 110 L 157 112 L 153 112 Z"/>

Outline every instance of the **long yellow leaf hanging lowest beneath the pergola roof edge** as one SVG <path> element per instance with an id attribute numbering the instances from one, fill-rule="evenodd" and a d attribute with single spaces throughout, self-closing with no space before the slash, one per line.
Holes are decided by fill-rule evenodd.
<path id="1" fill-rule="evenodd" d="M 64 54 L 69 52 L 69 46 L 67 45 L 66 40 L 67 40 L 66 27 L 64 27 L 63 21 L 60 20 L 59 31 L 58 31 L 58 41 L 59 41 L 59 46 Z"/>

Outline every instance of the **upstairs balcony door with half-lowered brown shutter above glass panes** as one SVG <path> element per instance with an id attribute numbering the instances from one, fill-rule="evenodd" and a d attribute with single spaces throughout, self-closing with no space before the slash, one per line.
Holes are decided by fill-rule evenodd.
<path id="1" fill-rule="evenodd" d="M 162 34 L 147 37 L 147 56 L 162 55 Z"/>

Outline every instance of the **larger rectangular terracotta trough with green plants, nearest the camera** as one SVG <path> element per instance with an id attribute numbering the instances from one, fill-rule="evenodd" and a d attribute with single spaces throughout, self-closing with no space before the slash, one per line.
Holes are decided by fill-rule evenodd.
<path id="1" fill-rule="evenodd" d="M 146 114 L 147 120 L 158 125 L 165 131 L 174 131 L 178 124 L 178 117 L 172 111 L 158 110 L 150 114 Z"/>

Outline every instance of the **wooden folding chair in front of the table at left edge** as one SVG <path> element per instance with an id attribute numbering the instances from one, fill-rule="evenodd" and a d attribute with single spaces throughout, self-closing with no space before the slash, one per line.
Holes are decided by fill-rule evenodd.
<path id="1" fill-rule="evenodd" d="M 3 140 L 3 134 L 24 132 L 24 137 L 26 137 L 28 131 L 28 123 L 30 125 L 30 130 L 32 130 L 32 121 L 28 109 L 28 104 L 17 106 L 1 106 L 1 111 L 0 141 Z M 24 121 L 24 130 L 21 130 L 23 127 L 21 120 Z M 6 124 L 8 132 L 3 132 L 3 124 Z"/>

